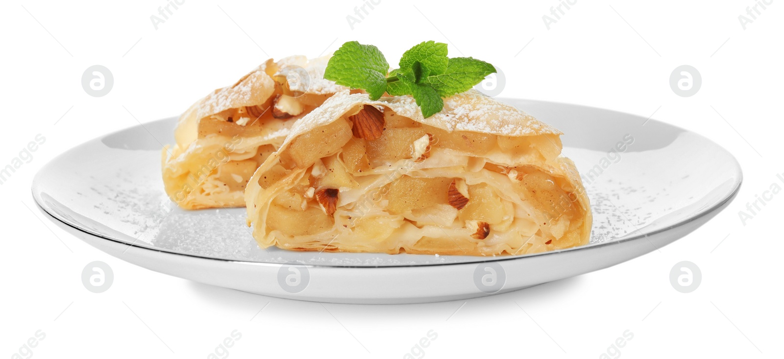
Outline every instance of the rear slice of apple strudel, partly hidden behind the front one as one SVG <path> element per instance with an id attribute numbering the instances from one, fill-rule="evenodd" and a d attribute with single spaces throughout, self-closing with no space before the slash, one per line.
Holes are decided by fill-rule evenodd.
<path id="1" fill-rule="evenodd" d="M 267 60 L 185 111 L 162 151 L 166 194 L 184 209 L 241 207 L 253 172 L 296 119 L 346 89 L 324 79 L 329 57 Z"/>

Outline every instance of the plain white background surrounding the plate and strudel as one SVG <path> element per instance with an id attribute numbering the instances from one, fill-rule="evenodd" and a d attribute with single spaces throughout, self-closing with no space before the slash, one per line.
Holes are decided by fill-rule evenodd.
<path id="1" fill-rule="evenodd" d="M 579 0 L 548 30 L 542 16 L 556 0 L 382 0 L 351 29 L 347 16 L 360 0 L 187 0 L 156 30 L 150 16 L 165 4 L 0 5 L 0 166 L 38 133 L 46 138 L 0 187 L 0 357 L 12 357 L 39 329 L 46 336 L 34 357 L 208 357 L 235 329 L 242 337 L 230 357 L 404 357 L 430 330 L 437 339 L 426 357 L 600 357 L 626 330 L 633 339 L 619 348 L 623 357 L 784 354 L 784 194 L 746 226 L 739 219 L 772 183 L 784 186 L 775 178 L 784 172 L 784 4 L 772 2 L 744 30 L 738 16 L 755 2 Z M 431 39 L 448 42 L 451 56 L 503 69 L 501 96 L 653 114 L 709 137 L 742 164 L 740 194 L 661 252 L 607 270 L 467 302 L 325 304 L 328 310 L 130 265 L 49 223 L 31 200 L 42 165 L 85 140 L 138 125 L 129 111 L 142 122 L 177 115 L 268 57 L 313 57 L 358 40 L 396 63 Z M 107 96 L 82 90 L 82 72 L 94 64 L 114 74 Z M 702 74 L 702 88 L 688 98 L 669 85 L 683 64 Z M 82 286 L 82 268 L 93 260 L 114 269 L 107 292 Z M 670 285 L 670 268 L 681 260 L 702 269 L 695 292 Z"/>

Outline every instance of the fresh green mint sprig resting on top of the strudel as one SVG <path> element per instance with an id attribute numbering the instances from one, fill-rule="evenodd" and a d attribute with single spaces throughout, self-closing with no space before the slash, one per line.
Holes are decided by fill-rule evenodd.
<path id="1" fill-rule="evenodd" d="M 472 57 L 447 57 L 447 45 L 422 42 L 401 56 L 399 68 L 389 63 L 376 46 L 346 42 L 329 59 L 324 78 L 338 85 L 364 89 L 371 100 L 387 92 L 390 96 L 411 95 L 425 118 L 444 108 L 442 98 L 466 92 L 481 82 L 495 67 Z M 387 73 L 388 71 L 388 73 Z"/>

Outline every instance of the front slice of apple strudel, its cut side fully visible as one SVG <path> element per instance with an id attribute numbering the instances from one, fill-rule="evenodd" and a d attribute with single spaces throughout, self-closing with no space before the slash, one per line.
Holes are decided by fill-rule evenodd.
<path id="1" fill-rule="evenodd" d="M 259 245 L 494 256 L 586 245 L 588 197 L 561 132 L 475 90 L 423 118 L 411 96 L 339 92 L 245 190 Z"/>

